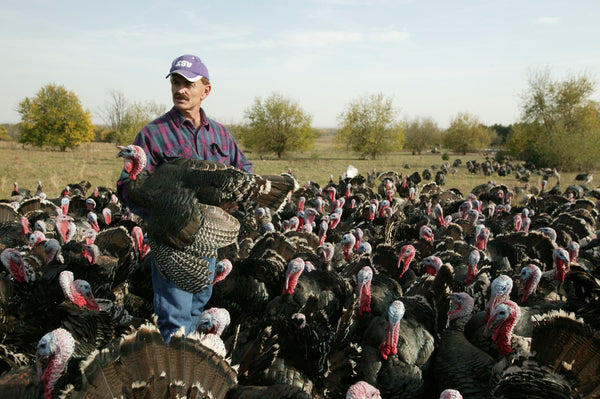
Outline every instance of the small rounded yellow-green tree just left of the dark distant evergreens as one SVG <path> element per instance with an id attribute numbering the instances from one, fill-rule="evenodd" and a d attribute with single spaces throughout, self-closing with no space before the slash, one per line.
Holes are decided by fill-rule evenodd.
<path id="1" fill-rule="evenodd" d="M 452 119 L 442 140 L 444 147 L 466 154 L 467 151 L 487 147 L 491 142 L 491 133 L 477 117 L 462 112 Z"/>

